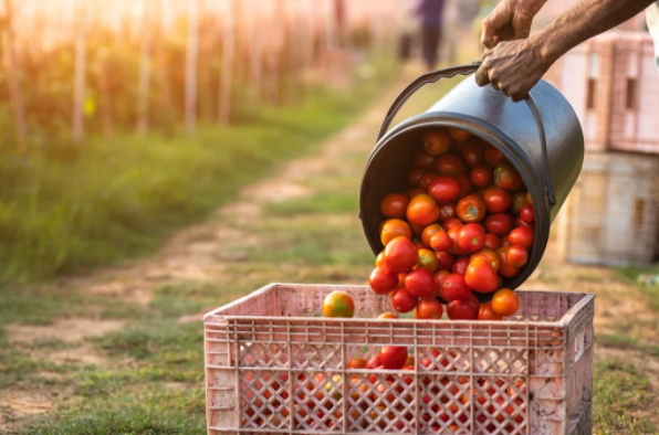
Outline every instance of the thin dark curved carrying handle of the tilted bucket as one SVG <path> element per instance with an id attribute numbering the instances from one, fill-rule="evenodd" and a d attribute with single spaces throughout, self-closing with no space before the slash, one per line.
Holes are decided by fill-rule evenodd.
<path id="1" fill-rule="evenodd" d="M 426 73 L 415 78 L 414 82 L 411 82 L 409 85 L 407 85 L 405 89 L 402 89 L 402 92 L 396 97 L 396 99 L 391 104 L 391 107 L 389 107 L 389 110 L 387 110 L 387 115 L 385 116 L 385 120 L 383 121 L 383 125 L 380 127 L 380 131 L 377 135 L 377 141 L 379 141 L 383 138 L 383 136 L 385 136 L 387 129 L 389 128 L 389 125 L 391 125 L 391 121 L 394 120 L 394 117 L 396 116 L 396 114 L 398 114 L 398 110 L 400 110 L 400 107 L 402 107 L 402 105 L 408 100 L 408 98 L 411 97 L 412 94 L 416 93 L 419 88 L 429 83 L 436 83 L 440 78 L 450 78 L 454 77 L 458 74 L 472 74 L 479 68 L 479 66 L 481 66 L 480 63 L 473 63 L 471 65 L 452 66 L 450 68 Z M 540 147 L 542 151 L 542 162 L 545 170 L 545 181 L 547 184 L 547 199 L 550 201 L 550 204 L 555 205 L 556 197 L 554 195 L 554 188 L 552 187 L 552 179 L 550 177 L 550 163 L 547 160 L 547 139 L 545 136 L 544 123 L 542 120 L 542 116 L 540 114 L 537 105 L 531 96 L 531 93 L 524 97 L 524 102 L 531 109 L 531 114 L 533 115 L 533 119 L 535 119 L 535 125 L 537 126 L 537 134 L 540 136 Z"/>

